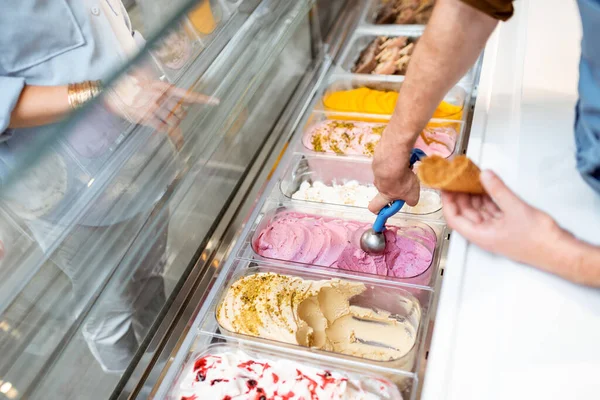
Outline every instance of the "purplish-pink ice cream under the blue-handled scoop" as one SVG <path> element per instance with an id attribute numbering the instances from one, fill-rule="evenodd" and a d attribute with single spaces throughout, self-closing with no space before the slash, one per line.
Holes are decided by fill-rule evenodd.
<path id="1" fill-rule="evenodd" d="M 282 213 L 258 232 L 253 245 L 267 258 L 397 278 L 421 275 L 431 265 L 436 236 L 430 229 L 388 226 L 385 253 L 374 255 L 362 251 L 355 239 L 370 227 L 364 222 Z"/>

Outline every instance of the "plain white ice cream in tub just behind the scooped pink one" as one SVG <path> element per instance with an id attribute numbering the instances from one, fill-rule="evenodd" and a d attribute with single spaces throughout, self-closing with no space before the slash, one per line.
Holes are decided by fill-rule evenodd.
<path id="1" fill-rule="evenodd" d="M 292 198 L 294 200 L 367 208 L 375 195 L 377 195 L 377 188 L 374 185 L 362 185 L 355 180 L 342 184 L 334 181 L 330 185 L 321 181 L 313 183 L 304 181 L 298 191 L 292 194 Z M 409 214 L 430 214 L 441 208 L 442 199 L 440 194 L 435 190 L 423 188 L 419 203 L 414 207 L 405 204 L 402 207 L 402 212 Z"/>

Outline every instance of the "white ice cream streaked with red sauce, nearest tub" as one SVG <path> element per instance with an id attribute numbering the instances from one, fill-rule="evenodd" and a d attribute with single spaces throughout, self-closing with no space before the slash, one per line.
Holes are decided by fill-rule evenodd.
<path id="1" fill-rule="evenodd" d="M 184 371 L 178 400 L 402 400 L 389 381 L 287 360 L 217 352 Z"/>

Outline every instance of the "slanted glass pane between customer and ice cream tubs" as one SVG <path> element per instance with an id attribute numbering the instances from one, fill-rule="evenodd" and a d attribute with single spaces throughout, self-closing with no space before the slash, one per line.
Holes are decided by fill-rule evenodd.
<path id="1" fill-rule="evenodd" d="M 129 32 L 105 1 L 85 12 L 114 10 L 104 22 Z M 127 4 L 150 39 L 98 99 L 0 143 L 0 398 L 106 399 L 154 351 L 145 339 L 315 61 L 311 1 L 164 4 Z"/>

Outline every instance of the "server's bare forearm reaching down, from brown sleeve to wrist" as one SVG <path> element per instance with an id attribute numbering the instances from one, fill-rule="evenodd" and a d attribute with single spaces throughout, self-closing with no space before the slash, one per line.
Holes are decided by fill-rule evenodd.
<path id="1" fill-rule="evenodd" d="M 439 0 L 412 56 L 386 134 L 411 149 L 446 93 L 475 63 L 496 25 L 495 19 L 459 0 Z"/>

